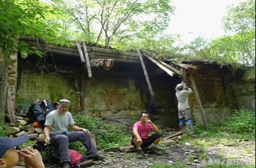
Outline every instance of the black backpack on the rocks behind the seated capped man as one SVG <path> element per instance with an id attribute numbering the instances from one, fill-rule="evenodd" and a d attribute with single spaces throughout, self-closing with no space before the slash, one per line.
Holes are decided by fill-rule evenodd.
<path id="1" fill-rule="evenodd" d="M 26 113 L 26 116 L 28 118 L 31 118 L 31 122 L 38 121 L 38 123 L 42 126 L 44 126 L 44 123 L 46 121 L 46 115 L 53 110 L 56 110 L 55 105 L 47 100 L 43 101 L 34 101 Z"/>

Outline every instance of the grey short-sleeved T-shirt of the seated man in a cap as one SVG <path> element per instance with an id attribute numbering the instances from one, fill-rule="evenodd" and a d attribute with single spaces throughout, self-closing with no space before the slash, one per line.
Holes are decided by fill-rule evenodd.
<path id="1" fill-rule="evenodd" d="M 62 133 L 68 132 L 68 126 L 73 124 L 74 120 L 70 112 L 62 115 L 58 110 L 54 110 L 46 116 L 44 125 L 50 126 L 50 133 Z"/>

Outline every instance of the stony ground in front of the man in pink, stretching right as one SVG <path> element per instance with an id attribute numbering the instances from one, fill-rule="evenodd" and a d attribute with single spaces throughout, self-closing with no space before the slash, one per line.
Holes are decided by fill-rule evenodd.
<path id="1" fill-rule="evenodd" d="M 246 150 L 246 147 L 252 150 Z M 193 147 L 190 143 L 183 145 L 170 145 L 161 147 L 162 155 L 154 155 L 150 150 L 145 151 L 146 157 L 138 159 L 135 152 L 100 151 L 106 159 L 95 161 L 89 166 L 95 167 L 153 167 L 157 164 L 169 166 L 180 165 L 185 167 L 203 167 L 207 164 L 223 164 L 226 166 L 241 166 L 245 164 L 255 165 L 255 141 L 243 141 L 234 146 L 216 145 L 206 147 Z M 231 157 L 233 156 L 233 157 Z M 235 156 L 235 157 L 234 157 Z M 20 166 L 19 166 L 20 167 Z M 46 164 L 46 167 L 57 167 L 57 165 Z M 18 168 L 18 166 L 16 167 Z"/>

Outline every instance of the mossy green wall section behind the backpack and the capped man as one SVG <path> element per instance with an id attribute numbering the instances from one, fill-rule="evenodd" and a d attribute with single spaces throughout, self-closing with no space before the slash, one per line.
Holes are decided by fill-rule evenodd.
<path id="1" fill-rule="evenodd" d="M 57 102 L 65 98 L 71 101 L 71 108 L 73 108 L 76 101 L 75 90 L 74 78 L 70 78 L 68 75 L 24 71 L 17 90 L 17 106 L 18 108 L 27 107 L 34 99 Z"/>

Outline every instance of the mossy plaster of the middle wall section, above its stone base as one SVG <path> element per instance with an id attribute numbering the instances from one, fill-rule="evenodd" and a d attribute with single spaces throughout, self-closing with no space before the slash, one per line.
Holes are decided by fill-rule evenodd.
<path id="1" fill-rule="evenodd" d="M 140 109 L 140 91 L 132 80 L 92 78 L 87 81 L 85 107 L 87 110 Z"/>

